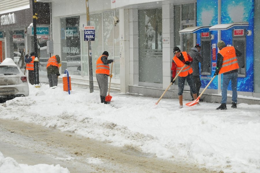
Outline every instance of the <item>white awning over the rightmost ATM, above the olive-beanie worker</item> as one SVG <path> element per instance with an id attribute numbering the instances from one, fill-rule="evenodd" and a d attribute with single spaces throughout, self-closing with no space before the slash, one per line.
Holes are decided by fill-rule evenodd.
<path id="1" fill-rule="evenodd" d="M 246 29 L 248 22 L 226 23 L 218 24 L 209 28 L 210 31 L 215 30 L 233 30 L 233 29 Z"/>

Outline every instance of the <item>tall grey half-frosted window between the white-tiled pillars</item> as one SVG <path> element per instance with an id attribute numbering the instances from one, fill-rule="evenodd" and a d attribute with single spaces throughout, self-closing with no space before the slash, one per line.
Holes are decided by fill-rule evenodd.
<path id="1" fill-rule="evenodd" d="M 162 10 L 138 11 L 139 82 L 162 84 Z"/>

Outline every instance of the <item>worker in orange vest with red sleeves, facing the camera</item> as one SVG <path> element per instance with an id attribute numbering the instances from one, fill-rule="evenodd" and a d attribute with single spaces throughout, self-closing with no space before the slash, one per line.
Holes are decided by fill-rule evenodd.
<path id="1" fill-rule="evenodd" d="M 179 73 L 179 76 L 178 76 L 178 87 L 179 87 L 178 96 L 179 96 L 179 103 L 180 103 L 179 108 L 183 108 L 183 102 L 182 102 L 183 95 L 182 94 L 183 94 L 185 80 L 187 80 L 187 82 L 190 86 L 190 90 L 192 91 L 193 99 L 194 100 L 197 99 L 197 91 L 196 91 L 194 79 L 192 76 L 193 70 L 192 70 L 192 67 L 190 66 L 192 64 L 193 60 L 187 52 L 185 52 L 185 51 L 182 52 L 179 47 L 174 47 L 173 53 L 174 53 L 174 57 L 172 58 L 172 68 L 171 68 L 172 84 L 175 82 L 175 80 L 173 80 L 173 79 L 175 78 L 176 71 L 177 71 L 177 73 L 179 73 L 181 68 L 184 65 L 186 65 L 186 67 L 183 68 L 183 70 Z M 200 105 L 200 104 L 197 103 L 197 105 Z"/>

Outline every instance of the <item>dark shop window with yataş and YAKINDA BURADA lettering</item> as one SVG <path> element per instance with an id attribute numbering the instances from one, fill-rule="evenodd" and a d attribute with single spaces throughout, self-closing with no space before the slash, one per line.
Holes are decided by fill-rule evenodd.
<path id="1" fill-rule="evenodd" d="M 79 16 L 60 19 L 62 72 L 81 75 Z"/>

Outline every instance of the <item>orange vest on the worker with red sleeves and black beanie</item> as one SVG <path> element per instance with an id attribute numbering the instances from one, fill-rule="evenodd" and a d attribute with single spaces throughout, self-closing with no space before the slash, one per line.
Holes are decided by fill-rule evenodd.
<path id="1" fill-rule="evenodd" d="M 188 58 L 187 52 L 181 52 L 181 53 L 183 54 L 183 57 L 184 57 L 185 61 L 188 61 L 189 58 Z M 177 71 L 177 73 L 179 73 L 179 71 L 181 70 L 181 68 L 182 68 L 185 64 L 184 64 L 179 58 L 177 58 L 177 56 L 174 56 L 174 57 L 172 58 L 172 60 L 174 60 L 175 64 L 177 65 L 176 71 Z M 192 70 L 192 68 L 191 68 L 190 65 L 188 65 L 187 67 L 185 67 L 185 68 L 181 71 L 181 73 L 179 74 L 179 76 L 180 76 L 180 77 L 188 76 L 188 72 L 189 72 L 190 74 L 193 73 L 193 70 Z"/>

